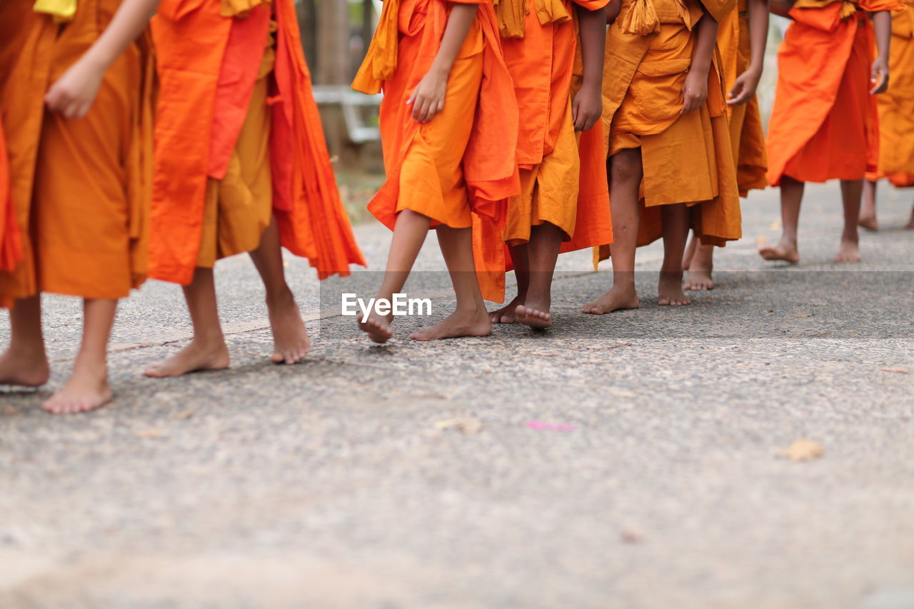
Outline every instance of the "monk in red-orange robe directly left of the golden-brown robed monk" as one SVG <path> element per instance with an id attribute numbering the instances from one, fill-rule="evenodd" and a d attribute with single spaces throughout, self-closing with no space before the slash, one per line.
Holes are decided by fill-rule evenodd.
<path id="1" fill-rule="evenodd" d="M 511 199 L 507 227 L 493 243 L 507 244 L 517 277 L 517 295 L 491 315 L 494 323 L 550 326 L 552 275 L 562 242 L 568 250 L 611 240 L 600 128 L 608 2 L 497 5 L 520 112 L 521 194 Z"/>

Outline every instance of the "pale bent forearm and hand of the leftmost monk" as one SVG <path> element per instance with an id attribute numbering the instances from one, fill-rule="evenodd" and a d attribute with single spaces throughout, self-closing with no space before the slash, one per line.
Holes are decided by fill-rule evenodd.
<path id="1" fill-rule="evenodd" d="M 48 108 L 67 118 L 85 116 L 105 72 L 148 25 L 158 4 L 159 0 L 123 0 L 99 39 L 51 85 L 45 95 Z"/>

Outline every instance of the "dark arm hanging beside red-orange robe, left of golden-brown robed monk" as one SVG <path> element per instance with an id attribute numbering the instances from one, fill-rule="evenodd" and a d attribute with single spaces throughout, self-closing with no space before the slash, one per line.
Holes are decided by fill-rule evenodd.
<path id="1" fill-rule="evenodd" d="M 584 78 L 571 102 L 571 120 L 578 131 L 588 131 L 603 113 L 603 55 L 606 52 L 605 8 L 589 11 L 576 5 L 580 24 L 580 53 Z"/>

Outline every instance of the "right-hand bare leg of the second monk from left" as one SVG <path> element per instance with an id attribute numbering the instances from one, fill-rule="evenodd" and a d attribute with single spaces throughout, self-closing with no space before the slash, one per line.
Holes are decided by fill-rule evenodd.
<path id="1" fill-rule="evenodd" d="M 260 245 L 250 252 L 250 259 L 260 272 L 260 279 L 267 292 L 267 311 L 273 332 L 273 354 L 270 360 L 274 364 L 302 361 L 311 347 L 311 340 L 304 327 L 302 311 L 285 281 L 280 233 L 276 228 L 275 217 L 271 219 L 267 230 L 263 231 Z"/>

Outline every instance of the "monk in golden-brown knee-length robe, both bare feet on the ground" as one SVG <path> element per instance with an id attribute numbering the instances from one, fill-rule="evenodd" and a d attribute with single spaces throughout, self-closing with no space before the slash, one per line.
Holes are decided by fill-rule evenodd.
<path id="1" fill-rule="evenodd" d="M 635 248 L 664 238 L 660 305 L 688 305 L 683 252 L 741 235 L 739 192 L 715 56 L 717 22 L 735 0 L 623 0 L 606 41 L 603 122 L 609 129 L 612 289 L 584 305 L 638 306 Z M 610 253 L 600 248 L 600 258 Z"/>

